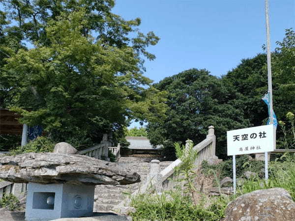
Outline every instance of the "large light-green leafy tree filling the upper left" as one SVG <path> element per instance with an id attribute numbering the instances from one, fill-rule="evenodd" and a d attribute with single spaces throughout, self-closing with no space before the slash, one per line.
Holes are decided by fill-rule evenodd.
<path id="1" fill-rule="evenodd" d="M 13 21 L 4 18 L 1 27 L 20 30 L 33 45 L 9 51 L 0 72 L 10 98 L 3 106 L 19 112 L 22 123 L 43 126 L 57 141 L 99 141 L 111 131 L 122 136 L 130 118 L 165 117 L 165 92 L 143 75 L 144 58 L 155 58 L 146 48 L 159 38 L 140 32 L 139 18 L 111 13 L 114 0 L 0 2 Z"/>

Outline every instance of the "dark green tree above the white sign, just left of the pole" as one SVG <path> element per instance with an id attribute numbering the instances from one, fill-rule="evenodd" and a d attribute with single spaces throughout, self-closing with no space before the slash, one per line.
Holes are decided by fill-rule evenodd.
<path id="1" fill-rule="evenodd" d="M 262 101 L 267 91 L 266 55 L 242 59 L 241 63 L 222 77 L 228 90 L 228 103 L 248 119 L 251 126 L 260 126 L 268 117 Z"/>

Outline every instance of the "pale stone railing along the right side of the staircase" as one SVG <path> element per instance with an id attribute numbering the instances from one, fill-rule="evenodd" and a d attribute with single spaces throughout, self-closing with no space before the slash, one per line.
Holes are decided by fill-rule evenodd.
<path id="1" fill-rule="evenodd" d="M 186 141 L 186 147 L 187 145 L 189 145 L 189 142 L 190 140 Z M 212 158 L 218 159 L 215 156 L 215 147 L 216 137 L 214 135 L 214 127 L 209 126 L 206 139 L 193 147 L 193 150 L 196 150 L 198 152 L 197 158 L 194 163 L 195 166 L 200 166 L 204 160 Z M 176 185 L 176 181 L 174 181 L 174 177 L 177 176 L 175 168 L 181 165 L 181 163 L 182 161 L 180 159 L 177 159 L 161 171 L 160 161 L 152 160 L 147 181 L 137 191 L 132 193 L 131 196 L 135 196 L 138 193 L 146 193 L 151 187 L 155 189 L 158 193 L 172 189 Z M 121 202 L 116 209 L 119 210 L 120 207 L 128 206 L 129 204 L 130 197 Z"/>

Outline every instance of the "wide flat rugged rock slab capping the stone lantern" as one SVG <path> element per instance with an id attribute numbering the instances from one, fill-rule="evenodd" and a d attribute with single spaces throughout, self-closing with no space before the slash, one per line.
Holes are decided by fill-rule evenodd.
<path id="1" fill-rule="evenodd" d="M 0 179 L 13 183 L 127 185 L 140 175 L 116 163 L 82 155 L 25 153 L 0 157 Z"/>

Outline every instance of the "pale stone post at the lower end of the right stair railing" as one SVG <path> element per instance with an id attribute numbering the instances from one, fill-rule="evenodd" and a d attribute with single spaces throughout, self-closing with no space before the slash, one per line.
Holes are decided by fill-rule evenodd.
<path id="1" fill-rule="evenodd" d="M 162 189 L 160 171 L 160 161 L 152 160 L 149 167 L 148 182 L 157 191 L 157 193 L 161 192 Z"/>

